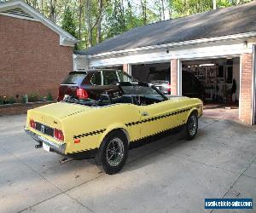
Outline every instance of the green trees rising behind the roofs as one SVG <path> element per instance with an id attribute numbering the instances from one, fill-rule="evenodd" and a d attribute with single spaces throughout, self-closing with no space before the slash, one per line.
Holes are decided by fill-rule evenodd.
<path id="1" fill-rule="evenodd" d="M 4 0 L 1 0 L 4 1 Z M 217 0 L 217 8 L 253 0 Z M 86 49 L 137 26 L 202 13 L 213 0 L 25 0 L 64 30 L 79 38 Z"/>

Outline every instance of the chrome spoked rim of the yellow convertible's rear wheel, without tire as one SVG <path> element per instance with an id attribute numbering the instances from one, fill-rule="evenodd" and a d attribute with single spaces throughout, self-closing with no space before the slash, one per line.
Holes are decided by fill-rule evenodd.
<path id="1" fill-rule="evenodd" d="M 107 161 L 110 166 L 117 166 L 124 158 L 124 144 L 119 138 L 113 138 L 108 143 L 107 147 Z"/>

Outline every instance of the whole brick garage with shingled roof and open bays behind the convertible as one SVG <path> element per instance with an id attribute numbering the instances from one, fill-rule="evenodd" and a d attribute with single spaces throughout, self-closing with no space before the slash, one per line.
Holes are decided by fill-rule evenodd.
<path id="1" fill-rule="evenodd" d="M 213 118 L 255 124 L 255 11 L 253 2 L 140 26 L 76 56 L 84 67 L 123 66 L 166 94 L 199 97 Z"/>

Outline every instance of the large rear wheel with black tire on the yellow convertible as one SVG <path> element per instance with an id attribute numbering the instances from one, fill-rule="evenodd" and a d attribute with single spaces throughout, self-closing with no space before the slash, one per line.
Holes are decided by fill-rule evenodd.
<path id="1" fill-rule="evenodd" d="M 121 170 L 128 157 L 128 141 L 120 130 L 110 132 L 96 153 L 96 164 L 108 175 L 113 175 Z"/>

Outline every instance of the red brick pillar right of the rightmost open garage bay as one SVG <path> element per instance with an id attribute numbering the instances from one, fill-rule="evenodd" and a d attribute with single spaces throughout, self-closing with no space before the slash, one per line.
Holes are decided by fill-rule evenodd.
<path id="1" fill-rule="evenodd" d="M 253 55 L 241 55 L 240 119 L 251 124 L 252 116 Z"/>

